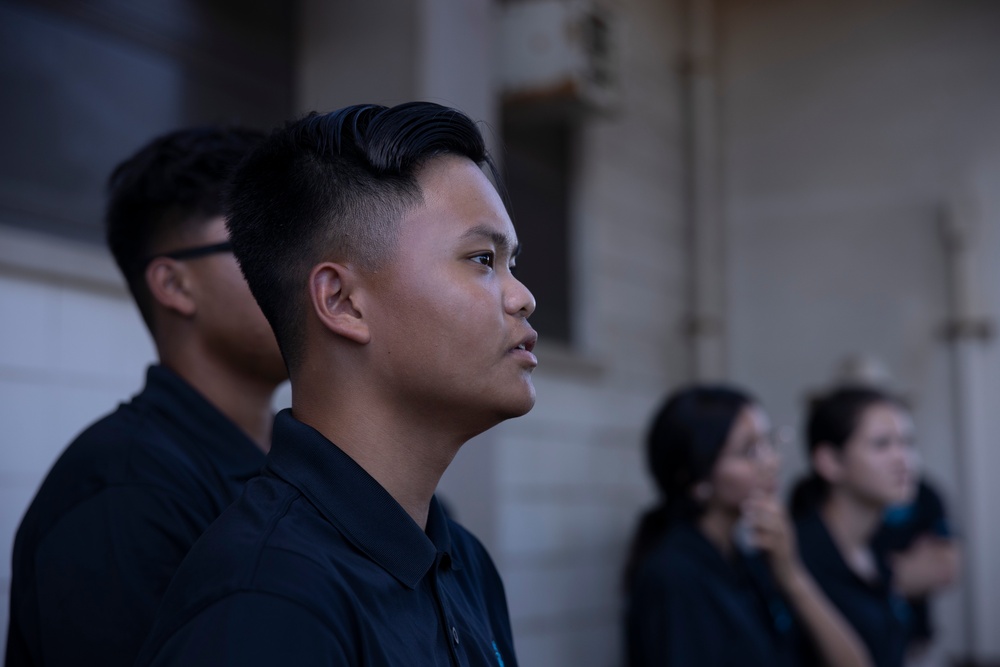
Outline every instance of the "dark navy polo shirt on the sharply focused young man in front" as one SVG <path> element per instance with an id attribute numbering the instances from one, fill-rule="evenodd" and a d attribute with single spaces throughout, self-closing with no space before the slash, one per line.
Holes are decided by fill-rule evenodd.
<path id="1" fill-rule="evenodd" d="M 517 663 L 482 545 L 436 500 L 421 530 L 285 410 L 264 471 L 177 571 L 137 664 Z"/>

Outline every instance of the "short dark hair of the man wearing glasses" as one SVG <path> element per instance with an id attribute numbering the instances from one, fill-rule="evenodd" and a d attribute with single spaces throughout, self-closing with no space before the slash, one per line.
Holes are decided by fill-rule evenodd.
<path id="1" fill-rule="evenodd" d="M 148 260 L 178 234 L 222 214 L 233 170 L 264 137 L 235 126 L 177 130 L 151 141 L 108 178 L 105 238 L 154 335 Z"/>

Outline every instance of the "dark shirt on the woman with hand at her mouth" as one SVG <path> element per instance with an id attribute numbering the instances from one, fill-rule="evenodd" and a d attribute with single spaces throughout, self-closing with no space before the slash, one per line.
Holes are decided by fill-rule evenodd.
<path id="1" fill-rule="evenodd" d="M 794 621 L 760 556 L 726 559 L 691 523 L 639 566 L 626 612 L 630 667 L 783 667 Z"/>

